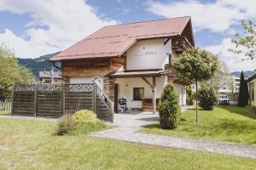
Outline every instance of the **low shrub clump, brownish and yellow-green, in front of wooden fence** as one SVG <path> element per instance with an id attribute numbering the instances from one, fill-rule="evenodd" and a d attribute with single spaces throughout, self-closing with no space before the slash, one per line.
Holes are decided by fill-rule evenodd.
<path id="1" fill-rule="evenodd" d="M 106 125 L 97 119 L 93 111 L 81 110 L 73 114 L 73 116 L 61 116 L 58 123 L 58 135 L 76 135 L 86 134 L 101 130 Z"/>

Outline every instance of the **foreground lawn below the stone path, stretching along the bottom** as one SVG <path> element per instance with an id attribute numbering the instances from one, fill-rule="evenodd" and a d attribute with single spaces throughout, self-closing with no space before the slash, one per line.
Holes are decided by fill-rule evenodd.
<path id="1" fill-rule="evenodd" d="M 56 136 L 55 122 L 0 118 L 0 169 L 254 169 L 255 159 L 89 136 Z"/>

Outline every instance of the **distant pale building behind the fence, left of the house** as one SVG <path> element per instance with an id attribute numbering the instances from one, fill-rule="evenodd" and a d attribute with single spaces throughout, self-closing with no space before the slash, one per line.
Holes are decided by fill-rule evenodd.
<path id="1" fill-rule="evenodd" d="M 39 71 L 39 79 L 40 82 L 44 84 L 61 84 L 64 82 L 61 77 L 61 72 L 54 70 Z"/>

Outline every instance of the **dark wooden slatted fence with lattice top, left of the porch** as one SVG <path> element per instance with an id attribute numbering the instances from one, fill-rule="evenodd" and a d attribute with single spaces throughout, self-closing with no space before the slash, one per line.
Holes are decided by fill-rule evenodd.
<path id="1" fill-rule="evenodd" d="M 87 109 L 113 122 L 113 102 L 96 83 L 14 85 L 13 96 L 13 115 L 59 117 Z"/>

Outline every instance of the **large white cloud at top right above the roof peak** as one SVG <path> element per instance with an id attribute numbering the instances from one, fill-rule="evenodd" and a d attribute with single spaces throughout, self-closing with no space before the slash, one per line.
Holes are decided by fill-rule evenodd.
<path id="1" fill-rule="evenodd" d="M 148 10 L 153 14 L 166 18 L 190 15 L 195 31 L 209 29 L 216 32 L 226 31 L 241 19 L 255 17 L 255 6 L 255 0 L 217 0 L 213 3 L 196 0 L 148 2 Z"/>

